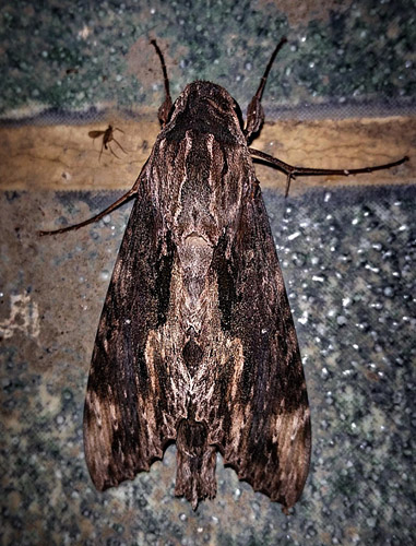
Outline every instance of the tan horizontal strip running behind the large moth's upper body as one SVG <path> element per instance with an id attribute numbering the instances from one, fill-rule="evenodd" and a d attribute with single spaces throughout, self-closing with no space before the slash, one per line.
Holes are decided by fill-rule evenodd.
<path id="1" fill-rule="evenodd" d="M 122 129 L 123 133 L 116 132 L 115 136 L 127 154 L 111 143 L 119 158 L 104 151 L 100 161 L 102 139 L 93 140 L 88 132 L 105 130 L 106 122 L 0 128 L 0 188 L 26 191 L 130 188 L 148 157 L 159 127 L 150 121 L 109 122 Z M 371 175 L 298 178 L 290 189 L 297 193 L 313 186 L 414 182 L 415 141 L 416 118 L 408 116 L 268 122 L 252 146 L 293 165 L 336 169 L 389 163 L 404 155 L 411 157 L 400 167 Z M 283 174 L 264 165 L 255 168 L 262 187 L 284 191 Z"/>

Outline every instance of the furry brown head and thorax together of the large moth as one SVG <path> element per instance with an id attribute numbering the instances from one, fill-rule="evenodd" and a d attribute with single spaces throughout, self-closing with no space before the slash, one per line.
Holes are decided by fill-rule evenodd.
<path id="1" fill-rule="evenodd" d="M 224 229 L 236 227 L 236 211 L 255 180 L 238 112 L 226 90 L 193 82 L 159 134 L 148 166 L 151 191 L 177 245 L 195 236 L 214 247 Z"/>

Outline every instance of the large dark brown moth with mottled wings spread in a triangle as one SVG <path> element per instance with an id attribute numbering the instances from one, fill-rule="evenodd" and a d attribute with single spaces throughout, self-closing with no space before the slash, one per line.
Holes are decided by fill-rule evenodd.
<path id="1" fill-rule="evenodd" d="M 177 446 L 177 496 L 216 494 L 216 452 L 287 511 L 308 475 L 311 426 L 294 321 L 252 156 L 297 175 L 370 173 L 287 165 L 249 147 L 281 40 L 247 114 L 219 85 L 173 104 L 134 186 L 76 229 L 134 198 L 95 340 L 84 444 L 99 490 L 148 471 Z M 286 190 L 286 192 L 287 192 Z"/>

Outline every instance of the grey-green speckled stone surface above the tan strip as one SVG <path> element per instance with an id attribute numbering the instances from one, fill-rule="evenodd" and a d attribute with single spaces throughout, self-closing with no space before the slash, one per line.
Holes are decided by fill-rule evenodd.
<path id="1" fill-rule="evenodd" d="M 264 104 L 408 105 L 415 93 L 413 0 L 124 0 L 2 2 L 0 114 L 51 108 L 157 108 L 163 82 L 148 37 L 165 50 L 173 94 L 206 79 L 243 106 L 278 39 Z M 369 105 L 369 102 L 371 104 Z M 93 109 L 91 111 L 91 109 Z M 14 110 L 14 111 L 12 111 Z M 51 118 L 49 118 L 51 119 Z"/>

